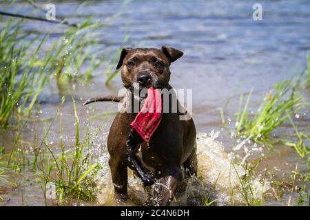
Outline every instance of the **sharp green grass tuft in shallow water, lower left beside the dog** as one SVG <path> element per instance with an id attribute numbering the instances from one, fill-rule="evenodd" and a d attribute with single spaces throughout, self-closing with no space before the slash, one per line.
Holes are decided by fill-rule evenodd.
<path id="1" fill-rule="evenodd" d="M 79 118 L 75 115 L 75 143 L 74 152 L 70 149 L 66 150 L 62 140 L 61 133 L 61 153 L 54 153 L 52 147 L 48 144 L 48 128 L 45 129 L 45 140 L 43 143 L 43 151 L 40 153 L 41 177 L 43 178 L 43 192 L 46 203 L 47 185 L 54 184 L 56 187 L 56 198 L 59 204 L 62 204 L 64 199 L 79 199 L 88 201 L 94 199 L 94 179 L 101 170 L 101 165 L 92 164 L 90 157 L 90 149 L 92 146 L 91 135 L 87 132 L 84 140 L 80 140 Z M 61 126 L 60 126 L 61 127 Z"/>

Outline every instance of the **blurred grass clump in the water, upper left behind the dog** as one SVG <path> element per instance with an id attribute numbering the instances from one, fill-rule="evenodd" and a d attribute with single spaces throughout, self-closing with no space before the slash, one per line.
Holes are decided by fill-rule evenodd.
<path id="1" fill-rule="evenodd" d="M 79 28 L 69 28 L 63 37 L 54 42 L 50 68 L 54 69 L 56 83 L 59 85 L 65 82 L 72 82 L 77 78 L 90 80 L 93 72 L 103 62 L 103 58 L 94 50 L 94 45 L 99 44 L 99 39 L 94 32 L 103 28 L 106 23 L 92 23 L 87 19 L 79 25 Z M 41 61 L 44 63 L 44 61 Z M 89 67 L 81 72 L 83 64 Z M 40 66 L 41 64 L 38 63 Z"/>

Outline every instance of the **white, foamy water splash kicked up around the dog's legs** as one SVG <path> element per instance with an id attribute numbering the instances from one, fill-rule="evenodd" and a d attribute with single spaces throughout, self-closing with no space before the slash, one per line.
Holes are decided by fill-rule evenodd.
<path id="1" fill-rule="evenodd" d="M 238 175 L 241 177 L 246 174 L 246 170 L 239 164 L 232 164 L 231 161 L 236 157 L 240 157 L 236 150 L 246 148 L 245 144 L 249 139 L 245 139 L 238 144 L 231 153 L 225 152 L 223 144 L 218 142 L 216 138 L 220 135 L 220 131 L 211 131 L 211 133 L 198 133 L 196 137 L 197 142 L 197 156 L 198 156 L 198 178 L 192 177 L 187 179 L 187 188 L 183 194 L 178 195 L 172 205 L 201 205 L 203 196 L 209 193 L 209 190 L 215 186 L 214 195 L 212 199 L 216 199 L 216 205 L 229 205 L 231 199 L 231 190 L 234 190 L 234 201 L 242 202 L 242 195 L 236 190 L 236 186 L 240 185 Z M 107 136 L 105 136 L 106 139 Z M 97 149 L 98 151 L 99 149 Z M 98 153 L 97 153 L 98 154 Z M 126 205 L 126 206 L 143 206 L 146 204 L 148 192 L 141 184 L 140 179 L 134 177 L 132 171 L 128 175 L 128 196 L 129 201 L 126 203 L 116 203 L 114 201 L 114 189 L 112 185 L 110 168 L 108 166 L 109 155 L 106 146 L 101 146 L 100 157 L 97 162 L 103 166 L 99 172 L 97 183 L 99 193 L 97 199 L 99 203 L 109 206 Z M 246 155 L 247 157 L 247 155 Z M 244 157 L 243 159 L 245 159 Z M 238 174 L 237 174 L 238 173 Z M 265 183 L 262 187 L 259 179 L 254 179 L 250 184 L 258 191 L 257 197 L 269 188 L 269 184 Z M 152 186 L 152 190 L 158 190 L 160 183 Z M 162 187 L 162 186 L 160 186 Z M 151 198 L 156 201 L 156 198 Z"/>

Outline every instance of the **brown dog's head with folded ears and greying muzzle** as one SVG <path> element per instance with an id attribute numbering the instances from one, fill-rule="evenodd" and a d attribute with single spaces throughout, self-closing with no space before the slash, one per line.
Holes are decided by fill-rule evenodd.
<path id="1" fill-rule="evenodd" d="M 170 79 L 169 66 L 183 56 L 183 52 L 172 47 L 123 48 L 116 69 L 121 69 L 125 88 L 131 91 L 138 85 L 139 90 L 154 87 L 164 89 Z"/>

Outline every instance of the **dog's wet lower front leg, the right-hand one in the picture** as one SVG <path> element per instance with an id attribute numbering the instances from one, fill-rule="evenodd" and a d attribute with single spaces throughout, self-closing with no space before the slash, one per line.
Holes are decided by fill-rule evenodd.
<path id="1" fill-rule="evenodd" d="M 178 182 L 181 181 L 182 177 L 181 168 L 173 167 L 166 170 L 165 177 L 162 181 L 163 186 L 161 189 L 161 195 L 158 199 L 159 206 L 169 206 L 172 199 L 174 199 L 176 186 L 178 185 Z"/>

